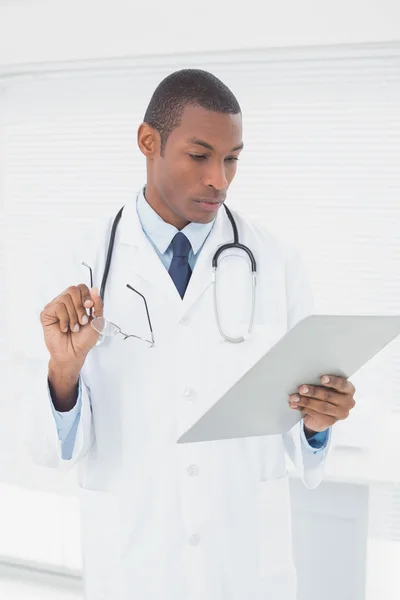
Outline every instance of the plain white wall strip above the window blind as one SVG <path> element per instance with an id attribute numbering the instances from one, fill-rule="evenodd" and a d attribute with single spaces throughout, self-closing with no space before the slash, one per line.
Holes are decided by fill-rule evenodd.
<path id="1" fill-rule="evenodd" d="M 0 67 L 399 39 L 399 0 L 0 0 Z"/>

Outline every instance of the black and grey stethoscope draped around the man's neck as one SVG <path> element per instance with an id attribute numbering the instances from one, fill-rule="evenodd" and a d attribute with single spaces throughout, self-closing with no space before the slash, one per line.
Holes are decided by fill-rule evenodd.
<path id="1" fill-rule="evenodd" d="M 225 208 L 226 214 L 228 216 L 228 219 L 231 222 L 232 232 L 233 232 L 233 242 L 230 242 L 228 244 L 223 244 L 222 246 L 220 246 L 212 258 L 213 288 L 214 288 L 214 312 L 215 312 L 215 320 L 217 322 L 217 327 L 218 327 L 218 330 L 219 330 L 221 336 L 228 342 L 231 342 L 233 344 L 238 344 L 240 342 L 244 342 L 244 340 L 246 339 L 245 336 L 231 337 L 223 331 L 222 326 L 221 326 L 219 309 L 218 309 L 218 301 L 217 301 L 218 260 L 223 252 L 226 252 L 227 250 L 232 250 L 232 249 L 243 251 L 245 254 L 247 254 L 247 256 L 250 260 L 251 275 L 252 275 L 252 299 L 251 299 L 251 314 L 250 314 L 250 321 L 249 321 L 249 327 L 247 330 L 247 335 L 251 332 L 251 330 L 253 328 L 253 322 L 254 322 L 255 302 L 256 302 L 257 265 L 256 265 L 256 260 L 254 258 L 254 254 L 252 253 L 250 248 L 248 248 L 247 246 L 245 246 L 244 244 L 241 244 L 239 242 L 239 233 L 238 233 L 237 225 L 236 225 L 235 219 L 233 218 L 231 211 L 226 206 L 226 204 L 224 204 L 224 208 Z M 104 294 L 105 294 L 105 290 L 106 290 L 108 274 L 110 272 L 111 259 L 112 259 L 112 254 L 113 254 L 113 250 L 114 250 L 115 234 L 117 231 L 118 223 L 121 220 L 123 210 L 124 210 L 124 207 L 122 207 L 118 211 L 118 213 L 114 219 L 112 228 L 111 228 L 106 263 L 105 263 L 103 279 L 101 281 L 101 287 L 100 287 L 100 296 L 103 300 L 104 300 Z"/>

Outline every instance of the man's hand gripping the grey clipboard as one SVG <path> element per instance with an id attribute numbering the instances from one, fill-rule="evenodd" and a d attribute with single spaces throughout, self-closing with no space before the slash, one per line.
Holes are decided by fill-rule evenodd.
<path id="1" fill-rule="evenodd" d="M 336 421 L 347 419 L 356 404 L 356 390 L 348 379 L 323 375 L 321 383 L 322 386 L 303 384 L 299 386 L 298 394 L 289 396 L 290 407 L 303 411 L 306 433 L 325 431 Z"/>

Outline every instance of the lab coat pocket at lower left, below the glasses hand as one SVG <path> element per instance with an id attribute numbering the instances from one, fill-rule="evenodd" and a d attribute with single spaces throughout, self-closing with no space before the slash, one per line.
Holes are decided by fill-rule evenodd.
<path id="1" fill-rule="evenodd" d="M 121 527 L 114 494 L 79 488 L 85 598 L 123 598 Z"/>

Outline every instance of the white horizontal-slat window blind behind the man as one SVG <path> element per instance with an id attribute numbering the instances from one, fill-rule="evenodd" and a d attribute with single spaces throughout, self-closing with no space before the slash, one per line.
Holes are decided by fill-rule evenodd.
<path id="1" fill-rule="evenodd" d="M 230 205 L 301 250 L 318 311 L 399 312 L 400 48 L 53 65 L 2 79 L 4 292 L 14 347 L 33 259 L 132 201 L 145 178 L 138 124 L 159 81 L 187 66 L 212 71 L 237 95 L 245 151 Z M 377 400 L 378 412 L 400 413 L 400 344 L 356 379 L 360 400 L 343 440 L 362 445 Z"/>

